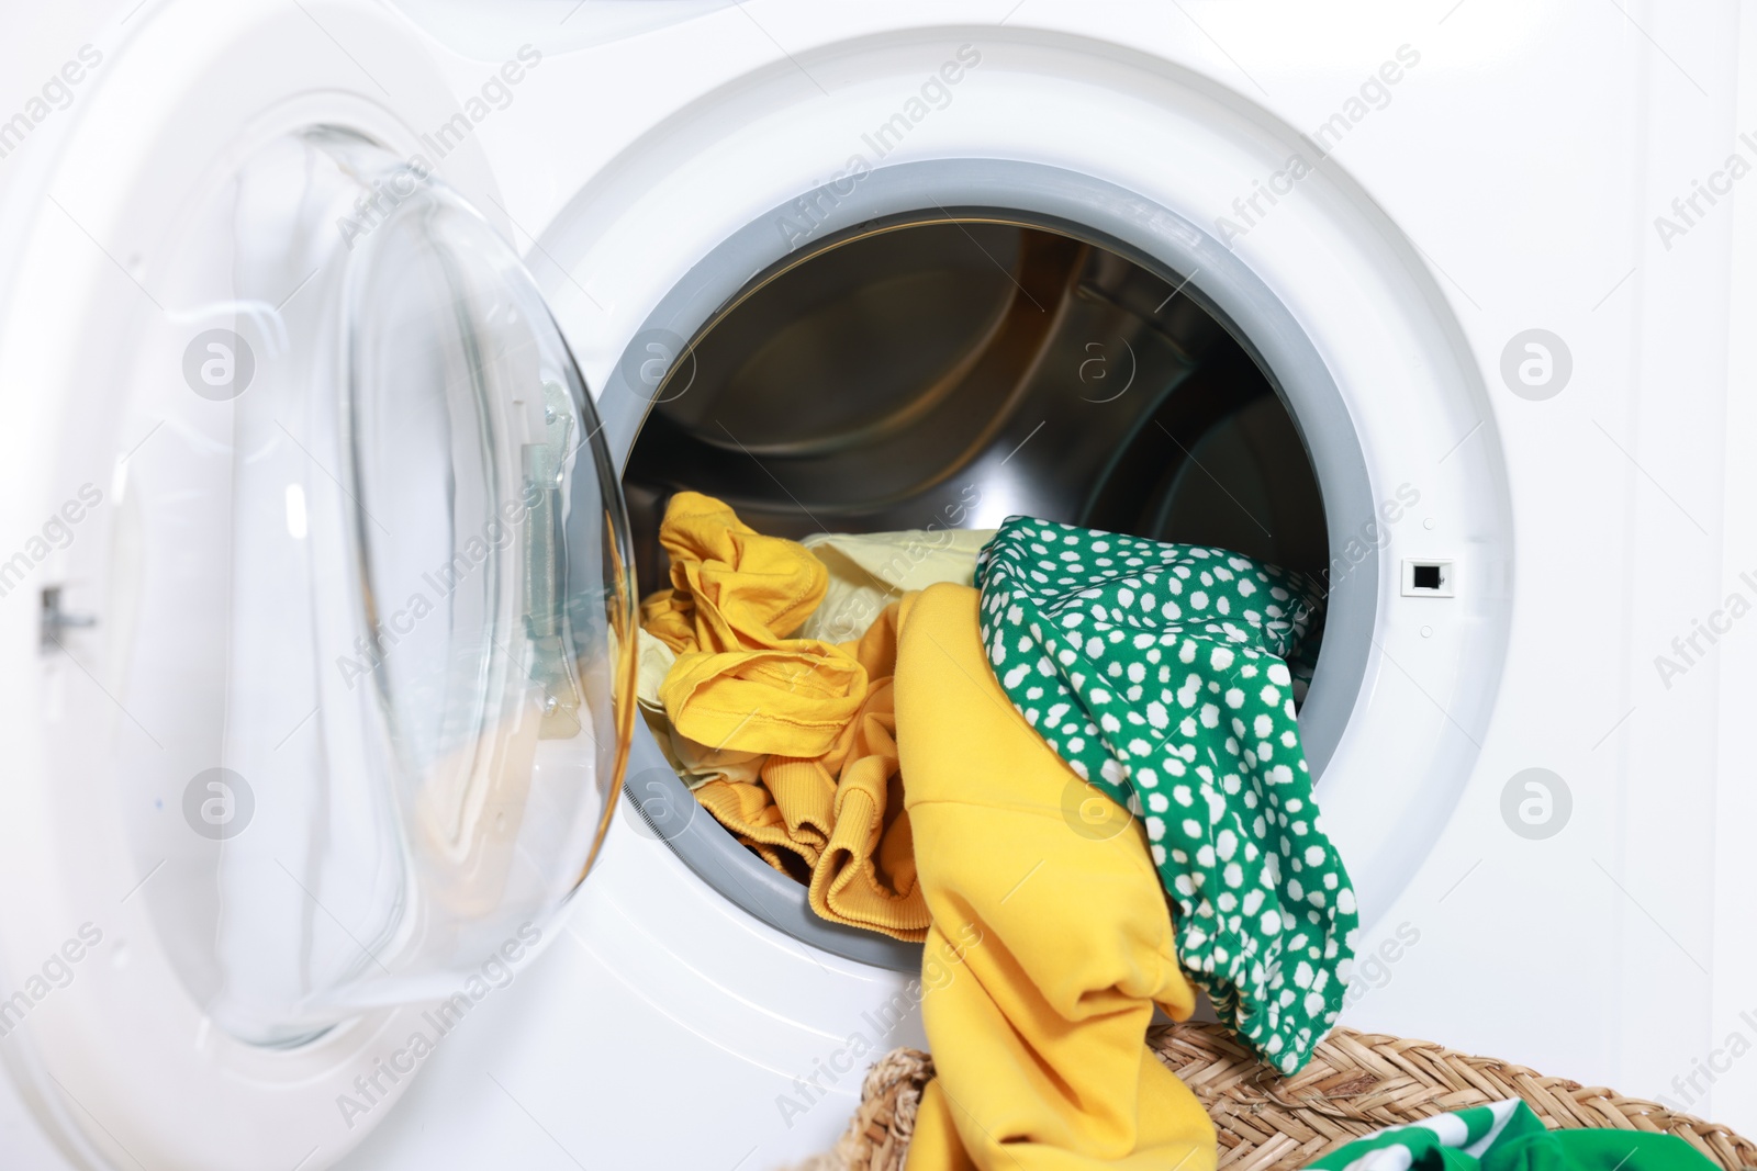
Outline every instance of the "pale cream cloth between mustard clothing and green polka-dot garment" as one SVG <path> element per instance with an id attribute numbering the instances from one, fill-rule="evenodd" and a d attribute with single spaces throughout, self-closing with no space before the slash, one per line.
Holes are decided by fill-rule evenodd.
<path id="1" fill-rule="evenodd" d="M 910 590 L 975 585 L 977 553 L 993 535 L 993 528 L 903 528 L 806 537 L 801 544 L 824 564 L 829 583 L 799 637 L 847 643 Z"/>

